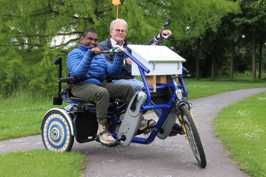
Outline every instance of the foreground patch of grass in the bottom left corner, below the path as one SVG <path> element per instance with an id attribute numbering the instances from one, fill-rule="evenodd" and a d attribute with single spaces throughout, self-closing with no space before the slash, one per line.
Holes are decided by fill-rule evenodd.
<path id="1" fill-rule="evenodd" d="M 82 175 L 86 156 L 77 152 L 58 153 L 30 150 L 1 154 L 0 176 L 69 176 Z M 69 160 L 71 159 L 71 160 Z"/>

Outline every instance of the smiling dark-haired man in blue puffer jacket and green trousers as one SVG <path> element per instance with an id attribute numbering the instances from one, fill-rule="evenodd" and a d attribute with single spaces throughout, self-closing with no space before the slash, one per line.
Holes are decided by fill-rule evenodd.
<path id="1" fill-rule="evenodd" d="M 107 109 L 110 98 L 125 100 L 127 106 L 134 96 L 130 85 L 118 85 L 104 82 L 106 75 L 118 75 L 123 67 L 124 55 L 115 55 L 113 64 L 105 60 L 101 50 L 95 48 L 98 35 L 93 28 L 83 32 L 81 43 L 77 49 L 68 54 L 67 66 L 70 76 L 76 76 L 78 82 L 72 83 L 71 93 L 78 97 L 96 103 L 96 117 L 98 122 L 97 136 L 99 142 L 106 146 L 116 146 L 118 143 L 110 134 L 107 124 Z M 95 52 L 95 56 L 90 51 Z"/>

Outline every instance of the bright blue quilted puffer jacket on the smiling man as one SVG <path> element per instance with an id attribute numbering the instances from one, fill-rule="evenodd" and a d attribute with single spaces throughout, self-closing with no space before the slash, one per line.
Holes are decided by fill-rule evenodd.
<path id="1" fill-rule="evenodd" d="M 84 83 L 101 85 L 101 81 L 105 80 L 106 75 L 120 74 L 124 55 L 116 54 L 114 63 L 110 64 L 104 55 L 96 55 L 92 58 L 91 49 L 92 47 L 86 47 L 80 43 L 77 49 L 69 52 L 66 64 L 70 76 L 76 76 L 78 79 L 84 80 Z"/>

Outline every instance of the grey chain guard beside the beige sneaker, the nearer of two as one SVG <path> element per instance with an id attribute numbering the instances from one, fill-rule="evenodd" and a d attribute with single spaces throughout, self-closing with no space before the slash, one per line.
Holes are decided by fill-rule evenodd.
<path id="1" fill-rule="evenodd" d="M 121 146 L 128 146 L 134 139 L 143 114 L 143 112 L 139 110 L 140 107 L 145 104 L 146 100 L 147 95 L 143 91 L 139 91 L 132 98 L 117 133 L 117 139 L 123 138 L 123 140 L 118 141 Z M 130 108 L 132 107 L 135 109 L 131 110 Z"/>

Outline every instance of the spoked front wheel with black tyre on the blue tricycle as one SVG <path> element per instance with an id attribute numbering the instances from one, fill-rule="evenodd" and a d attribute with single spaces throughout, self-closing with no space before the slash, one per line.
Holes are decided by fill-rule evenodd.
<path id="1" fill-rule="evenodd" d="M 196 157 L 198 164 L 202 167 L 205 168 L 206 167 L 206 157 L 205 157 L 205 153 L 202 147 L 202 143 L 200 140 L 200 135 L 198 133 L 198 130 L 196 128 L 196 125 L 193 121 L 193 118 L 190 114 L 190 111 L 188 110 L 188 108 L 183 105 L 181 106 L 181 110 L 182 110 L 182 119 L 184 121 L 184 128 L 185 128 L 185 134 L 186 137 L 189 140 L 189 144 L 191 146 L 191 149 L 193 151 L 194 156 Z"/>

